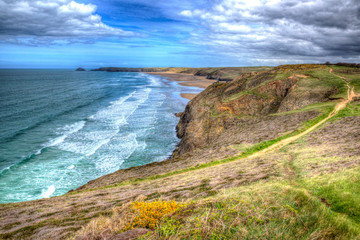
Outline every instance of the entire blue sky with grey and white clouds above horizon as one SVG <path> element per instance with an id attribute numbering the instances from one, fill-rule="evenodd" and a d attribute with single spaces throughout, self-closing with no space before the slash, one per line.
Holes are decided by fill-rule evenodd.
<path id="1" fill-rule="evenodd" d="M 0 68 L 360 62 L 360 0 L 0 0 Z"/>

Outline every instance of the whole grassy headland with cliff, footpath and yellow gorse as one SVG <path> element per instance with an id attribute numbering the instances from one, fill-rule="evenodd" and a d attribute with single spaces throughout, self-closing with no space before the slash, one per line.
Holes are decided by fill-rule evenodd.
<path id="1" fill-rule="evenodd" d="M 190 101 L 172 159 L 2 204 L 0 239 L 360 239 L 359 68 L 172 71 L 233 79 Z"/>

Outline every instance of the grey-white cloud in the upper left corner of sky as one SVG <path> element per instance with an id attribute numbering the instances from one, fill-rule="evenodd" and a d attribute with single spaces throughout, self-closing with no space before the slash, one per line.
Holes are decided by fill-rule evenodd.
<path id="1" fill-rule="evenodd" d="M 135 35 L 104 24 L 95 12 L 95 5 L 71 0 L 0 0 L 1 39 L 30 43 L 42 38 L 41 41 L 56 43 L 59 38 L 68 42 Z"/>

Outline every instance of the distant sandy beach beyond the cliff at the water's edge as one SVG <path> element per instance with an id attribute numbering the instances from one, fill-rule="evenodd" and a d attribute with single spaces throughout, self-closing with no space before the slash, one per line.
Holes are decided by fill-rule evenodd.
<path id="1" fill-rule="evenodd" d="M 182 86 L 206 88 L 213 84 L 215 80 L 206 79 L 203 76 L 194 76 L 186 73 L 172 73 L 172 72 L 149 72 L 148 74 L 159 75 L 168 78 L 169 81 L 177 81 Z M 182 93 L 181 97 L 186 99 L 193 99 L 197 94 Z"/>

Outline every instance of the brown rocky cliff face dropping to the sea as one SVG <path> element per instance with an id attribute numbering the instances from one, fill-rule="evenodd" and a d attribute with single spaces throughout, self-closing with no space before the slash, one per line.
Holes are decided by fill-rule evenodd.
<path id="1" fill-rule="evenodd" d="M 173 156 L 207 147 L 258 143 L 296 129 L 319 112 L 284 112 L 326 101 L 336 92 L 336 88 L 307 88 L 308 77 L 284 77 L 271 70 L 212 84 L 181 114 L 177 125 L 181 142 Z"/>

